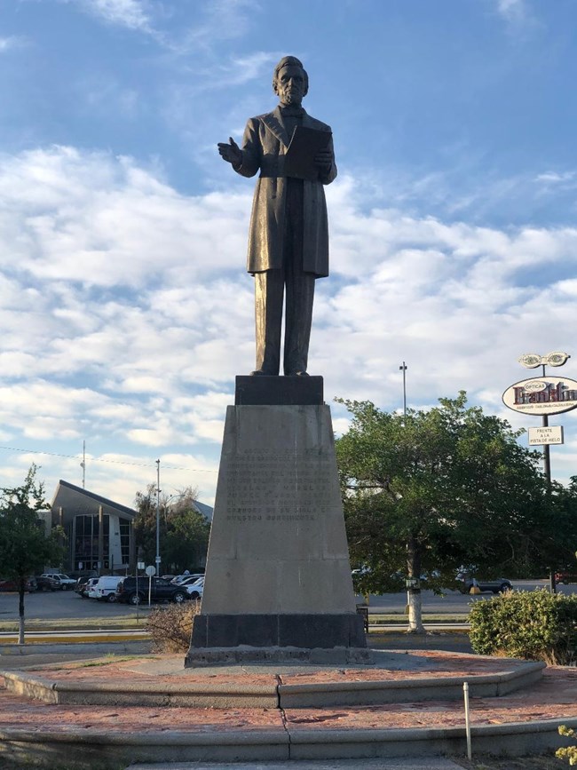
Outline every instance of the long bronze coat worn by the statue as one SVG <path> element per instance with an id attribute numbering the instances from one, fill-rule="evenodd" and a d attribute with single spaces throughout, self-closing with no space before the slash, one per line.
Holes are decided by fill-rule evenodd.
<path id="1" fill-rule="evenodd" d="M 320 123 L 306 113 L 302 124 L 317 131 L 330 131 L 326 123 Z M 234 170 L 243 177 L 254 177 L 260 170 L 250 219 L 249 273 L 264 273 L 284 264 L 282 244 L 286 177 L 283 170 L 289 141 L 279 107 L 273 112 L 250 118 L 244 131 L 242 163 Z M 336 177 L 332 137 L 328 147 L 333 153 L 329 171 L 319 181 L 303 182 L 303 270 L 315 274 L 317 278 L 328 275 L 327 202 L 323 185 L 328 185 Z"/>

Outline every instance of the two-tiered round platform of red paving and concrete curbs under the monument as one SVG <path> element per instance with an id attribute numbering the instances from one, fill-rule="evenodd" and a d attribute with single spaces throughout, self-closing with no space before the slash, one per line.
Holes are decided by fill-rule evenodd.
<path id="1" fill-rule="evenodd" d="M 182 655 L 148 655 L 2 672 L 0 759 L 117 770 L 134 762 L 462 757 L 463 681 L 474 757 L 550 753 L 568 744 L 557 726 L 577 726 L 576 669 L 433 650 L 376 655 L 378 663 L 360 669 L 184 670 Z"/>

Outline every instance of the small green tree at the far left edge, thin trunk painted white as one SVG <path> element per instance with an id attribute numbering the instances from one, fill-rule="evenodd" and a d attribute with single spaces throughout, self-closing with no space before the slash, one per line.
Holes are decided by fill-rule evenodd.
<path id="1" fill-rule="evenodd" d="M 29 576 L 42 572 L 47 564 L 60 564 L 64 549 L 63 532 L 55 528 L 46 536 L 38 515 L 50 510 L 44 499 L 44 485 L 36 480 L 31 465 L 20 487 L 0 488 L 0 565 L 3 575 L 15 581 L 19 593 L 19 644 L 24 644 L 24 594 Z"/>

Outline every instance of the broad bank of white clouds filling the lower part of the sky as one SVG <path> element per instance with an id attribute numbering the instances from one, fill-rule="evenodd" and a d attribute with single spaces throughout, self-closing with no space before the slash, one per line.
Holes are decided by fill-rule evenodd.
<path id="1" fill-rule="evenodd" d="M 407 216 L 361 189 L 351 176 L 328 188 L 332 276 L 317 284 L 310 355 L 326 401 L 398 409 L 407 361 L 409 406 L 464 388 L 501 413 L 527 341 L 572 353 L 577 229 Z M 0 157 L 0 210 L 4 444 L 88 439 L 153 463 L 194 447 L 212 473 L 233 377 L 254 361 L 248 188 L 186 196 L 130 158 L 52 147 Z M 21 474 L 20 460 L 6 467 Z M 91 473 L 102 486 L 89 488 L 130 504 L 154 468 Z"/>

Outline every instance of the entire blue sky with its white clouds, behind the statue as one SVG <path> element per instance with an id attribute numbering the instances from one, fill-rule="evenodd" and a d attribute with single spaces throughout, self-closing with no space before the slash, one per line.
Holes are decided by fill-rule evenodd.
<path id="1" fill-rule="evenodd" d="M 577 378 L 574 0 L 2 0 L 1 484 L 41 465 L 132 504 L 211 502 L 254 363 L 254 179 L 217 155 L 272 109 L 281 56 L 332 126 L 325 397 L 502 405 L 523 353 Z M 333 408 L 338 430 L 346 412 Z M 577 472 L 575 412 L 553 475 Z M 521 439 L 526 441 L 526 439 Z"/>

